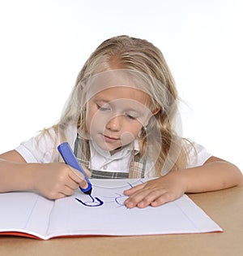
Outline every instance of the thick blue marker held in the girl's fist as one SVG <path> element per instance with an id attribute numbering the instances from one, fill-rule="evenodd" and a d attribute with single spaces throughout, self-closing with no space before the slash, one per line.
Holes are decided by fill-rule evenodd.
<path id="1" fill-rule="evenodd" d="M 63 160 L 65 161 L 66 164 L 70 165 L 70 167 L 74 167 L 75 169 L 81 171 L 83 173 L 83 176 L 85 180 L 87 181 L 87 189 L 83 189 L 79 187 L 79 189 L 83 193 L 91 194 L 92 193 L 92 184 L 87 178 L 87 175 L 85 171 L 83 171 L 83 168 L 80 166 L 78 160 L 75 158 L 75 154 L 70 148 L 70 145 L 67 142 L 64 142 L 60 145 L 58 145 L 58 151 L 62 155 Z"/>

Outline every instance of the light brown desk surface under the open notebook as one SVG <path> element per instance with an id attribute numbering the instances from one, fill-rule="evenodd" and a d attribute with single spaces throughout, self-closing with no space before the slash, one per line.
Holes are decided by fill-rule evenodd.
<path id="1" fill-rule="evenodd" d="M 0 255 L 243 255 L 243 184 L 232 189 L 191 194 L 224 232 L 161 236 L 31 238 L 0 236 Z"/>

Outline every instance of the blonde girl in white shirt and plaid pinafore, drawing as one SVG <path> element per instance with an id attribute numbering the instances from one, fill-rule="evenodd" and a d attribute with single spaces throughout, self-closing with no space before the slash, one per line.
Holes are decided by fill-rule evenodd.
<path id="1" fill-rule="evenodd" d="M 59 161 L 63 141 L 91 178 L 156 177 L 124 191 L 130 208 L 239 184 L 236 166 L 180 136 L 177 102 L 159 49 L 127 36 L 104 41 L 79 72 L 58 124 L 0 155 L 0 192 L 58 199 L 85 188 L 82 174 Z"/>

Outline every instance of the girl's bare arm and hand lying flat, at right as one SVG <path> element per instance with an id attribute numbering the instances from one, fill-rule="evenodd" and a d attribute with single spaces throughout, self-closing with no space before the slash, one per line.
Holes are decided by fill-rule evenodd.
<path id="1" fill-rule="evenodd" d="M 243 180 L 241 171 L 232 163 L 211 157 L 203 166 L 171 171 L 166 176 L 147 181 L 124 193 L 130 196 L 127 207 L 160 206 L 184 193 L 200 193 L 237 186 Z"/>

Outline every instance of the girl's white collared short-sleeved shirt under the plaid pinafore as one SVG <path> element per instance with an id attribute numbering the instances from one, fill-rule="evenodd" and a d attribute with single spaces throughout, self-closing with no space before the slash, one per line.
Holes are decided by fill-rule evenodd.
<path id="1" fill-rule="evenodd" d="M 49 129 L 49 135 L 45 134 L 40 138 L 32 137 L 28 141 L 23 141 L 15 150 L 22 155 L 27 163 L 53 163 L 58 162 L 59 154 L 55 145 L 56 137 L 53 129 Z M 75 140 L 77 136 L 77 128 L 70 126 L 66 129 L 67 141 L 70 146 L 74 148 Z M 62 141 L 64 142 L 64 141 Z M 189 152 L 189 163 L 188 167 L 197 167 L 203 165 L 211 154 L 205 150 L 202 145 L 198 145 L 193 142 L 193 146 L 188 142 L 185 143 L 187 150 Z M 91 159 L 90 167 L 94 170 L 99 171 L 122 171 L 129 172 L 130 161 L 132 157 L 133 145 L 127 145 L 122 150 L 118 150 L 115 154 L 111 156 L 109 151 L 101 150 L 94 142 L 90 143 Z M 138 142 L 134 143 L 135 154 L 139 152 Z M 194 150 L 197 152 L 197 157 L 195 157 Z M 147 161 L 148 162 L 148 161 Z M 121 170 L 122 167 L 122 170 Z M 145 177 L 152 177 L 155 175 L 155 170 L 152 163 L 147 163 L 145 171 Z"/>

